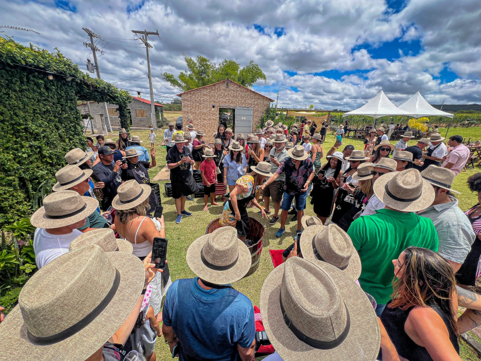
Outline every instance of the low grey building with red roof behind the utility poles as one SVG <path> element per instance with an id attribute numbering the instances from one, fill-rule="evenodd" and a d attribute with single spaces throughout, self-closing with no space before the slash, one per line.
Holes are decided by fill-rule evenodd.
<path id="1" fill-rule="evenodd" d="M 155 109 L 159 111 L 160 116 L 163 117 L 163 105 L 159 103 L 154 103 L 154 105 Z M 82 114 L 89 114 L 87 103 L 77 104 L 77 109 L 80 110 Z M 117 129 L 119 125 L 118 113 L 115 109 L 117 109 L 117 105 L 107 103 L 110 124 L 112 125 L 113 129 Z M 132 97 L 132 102 L 128 104 L 128 109 L 130 110 L 130 126 L 132 128 L 150 128 L 152 124 L 150 100 L 139 97 Z M 97 102 L 90 102 L 90 111 L 92 112 L 92 116 L 94 117 L 93 128 L 96 130 L 96 133 L 102 134 L 105 130 L 105 121 L 103 119 L 103 104 Z M 85 125 L 87 125 L 87 122 Z"/>

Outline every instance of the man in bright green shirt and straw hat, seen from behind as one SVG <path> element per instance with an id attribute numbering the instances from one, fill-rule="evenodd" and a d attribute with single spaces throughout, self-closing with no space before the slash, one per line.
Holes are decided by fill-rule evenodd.
<path id="1" fill-rule="evenodd" d="M 409 246 L 437 252 L 439 239 L 432 221 L 414 213 L 434 200 L 432 186 L 417 169 L 384 174 L 374 183 L 374 193 L 386 207 L 355 219 L 347 233 L 361 258 L 359 283 L 376 299 L 379 316 L 392 298 L 392 260 Z"/>

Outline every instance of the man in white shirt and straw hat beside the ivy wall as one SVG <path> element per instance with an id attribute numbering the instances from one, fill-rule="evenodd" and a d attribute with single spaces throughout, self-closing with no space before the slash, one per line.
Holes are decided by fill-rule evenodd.
<path id="1" fill-rule="evenodd" d="M 87 217 L 99 206 L 92 197 L 83 197 L 74 191 L 59 191 L 43 200 L 43 207 L 30 217 L 37 227 L 33 248 L 38 268 L 68 252 L 70 243 L 82 232 Z"/>

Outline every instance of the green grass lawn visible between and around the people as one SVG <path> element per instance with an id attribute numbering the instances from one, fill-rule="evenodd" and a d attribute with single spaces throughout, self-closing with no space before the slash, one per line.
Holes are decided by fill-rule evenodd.
<path id="1" fill-rule="evenodd" d="M 170 116 L 175 120 L 179 112 L 165 113 L 165 116 Z M 176 115 L 174 115 L 173 113 L 176 113 Z M 441 134 L 444 136 L 446 130 L 440 130 Z M 158 133 L 160 133 L 161 131 L 163 130 L 159 130 Z M 144 143 L 149 143 L 149 131 L 132 131 L 131 134 L 139 135 L 140 139 L 142 139 Z M 477 140 L 481 139 L 481 128 L 450 129 L 449 135 L 454 134 L 460 134 L 464 137 L 472 136 L 473 139 Z M 157 134 L 157 139 L 160 139 L 159 135 L 160 134 Z M 335 137 L 333 135 L 327 135 L 326 142 L 323 144 L 324 154 L 326 154 L 330 147 L 334 144 L 334 140 Z M 395 142 L 396 141 L 392 141 L 392 143 Z M 364 144 L 361 140 L 347 138 L 343 141 L 343 143 L 344 145 L 353 144 L 356 149 L 364 149 Z M 415 144 L 415 141 L 411 141 L 409 143 Z M 157 144 L 156 151 L 158 165 L 154 168 L 149 169 L 149 175 L 151 179 L 160 171 L 162 167 L 165 166 L 165 146 Z M 322 163 L 325 164 L 325 162 L 326 159 L 324 158 Z M 477 194 L 471 193 L 468 190 L 466 181 L 470 175 L 475 174 L 479 171 L 481 171 L 481 168 L 468 169 L 466 172 L 461 172 L 458 176 L 456 176 L 453 188 L 462 193 L 460 195 L 457 195 L 457 198 L 459 199 L 459 206 L 463 210 L 467 210 L 469 207 L 475 205 L 478 201 Z M 172 198 L 167 198 L 165 193 L 163 192 L 163 189 L 164 185 L 163 183 L 161 183 L 162 205 L 164 206 L 166 226 L 165 231 L 166 236 L 169 240 L 167 258 L 169 260 L 169 269 L 171 272 L 172 280 L 174 281 L 179 278 L 194 277 L 195 275 L 190 271 L 185 261 L 187 248 L 193 240 L 205 234 L 207 224 L 213 219 L 216 219 L 220 216 L 222 208 L 221 206 L 209 206 L 208 211 L 203 212 L 203 198 L 197 198 L 194 202 L 186 203 L 186 209 L 192 212 L 193 216 L 182 219 L 182 222 L 180 224 L 175 224 L 177 212 L 174 206 L 174 200 Z M 297 222 L 289 222 L 290 218 L 288 218 L 288 222 L 286 223 L 287 232 L 284 234 L 283 237 L 276 238 L 274 233 L 278 230 L 279 222 L 276 223 L 274 226 L 271 226 L 268 224 L 268 220 L 260 218 L 260 215 L 257 214 L 257 211 L 257 208 L 248 210 L 249 216 L 260 219 L 266 227 L 266 233 L 264 237 L 265 249 L 262 252 L 259 269 L 250 277 L 242 279 L 239 282 L 233 284 L 237 290 L 249 297 L 254 305 L 259 305 L 259 295 L 262 284 L 266 279 L 267 274 L 273 270 L 273 264 L 269 256 L 268 249 L 285 249 L 287 246 L 291 245 L 293 242 L 294 232 L 297 228 Z M 313 215 L 311 204 L 307 205 L 307 208 L 305 209 L 305 214 Z M 171 357 L 169 354 L 169 349 L 164 343 L 163 338 L 159 338 L 157 342 L 156 354 L 158 360 L 167 360 Z M 480 360 L 478 359 L 476 353 L 467 344 L 464 343 L 462 345 L 461 356 L 463 360 L 466 361 Z"/>

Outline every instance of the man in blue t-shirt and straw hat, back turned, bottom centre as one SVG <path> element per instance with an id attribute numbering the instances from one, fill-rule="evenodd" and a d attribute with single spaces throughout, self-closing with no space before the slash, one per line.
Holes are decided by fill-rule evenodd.
<path id="1" fill-rule="evenodd" d="M 233 227 L 196 239 L 187 264 L 198 277 L 175 281 L 165 296 L 162 332 L 183 360 L 254 360 L 251 300 L 232 288 L 251 266 L 247 246 Z"/>

